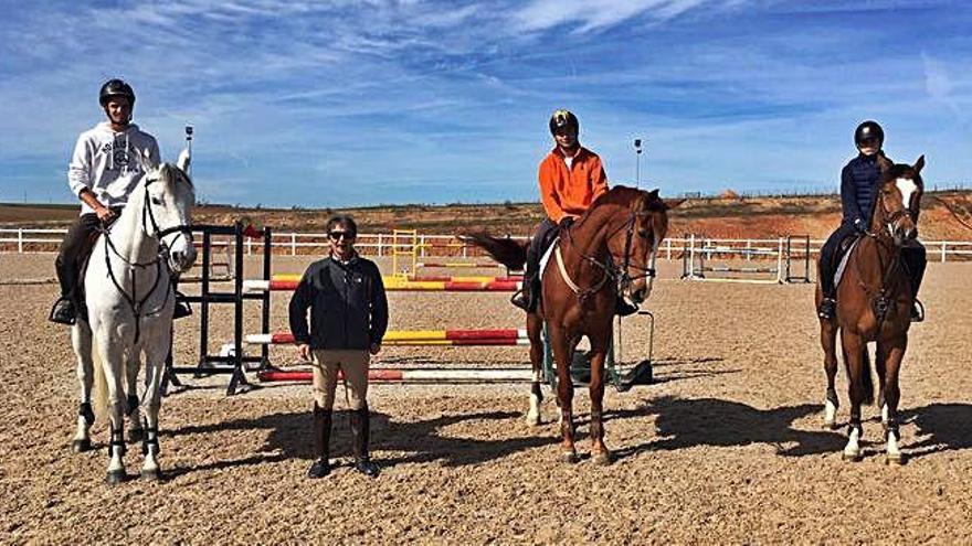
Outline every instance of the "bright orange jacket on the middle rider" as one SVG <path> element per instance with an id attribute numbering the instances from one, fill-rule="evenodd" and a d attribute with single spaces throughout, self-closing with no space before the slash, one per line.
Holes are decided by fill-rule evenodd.
<path id="1" fill-rule="evenodd" d="M 560 149 L 551 150 L 540 163 L 538 178 L 543 210 L 557 223 L 564 216 L 580 216 L 608 191 L 608 175 L 601 158 L 583 147 L 573 157 L 570 169 Z"/>

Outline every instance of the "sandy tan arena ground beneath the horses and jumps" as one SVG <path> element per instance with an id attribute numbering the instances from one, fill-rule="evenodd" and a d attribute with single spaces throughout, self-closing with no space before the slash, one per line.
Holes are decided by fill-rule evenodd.
<path id="1" fill-rule="evenodd" d="M 307 260 L 275 260 L 299 272 Z M 53 276 L 53 255 L 0 255 L 0 279 Z M 552 396 L 545 425 L 524 420 L 528 386 L 373 385 L 377 480 L 350 470 L 345 414 L 339 467 L 310 481 L 307 386 L 225 397 L 226 377 L 193 381 L 163 400 L 167 480 L 104 483 L 96 450 L 70 449 L 77 411 L 68 331 L 46 321 L 53 285 L 0 286 L 0 542 L 3 543 L 938 543 L 972 542 L 972 290 L 970 264 L 931 264 L 928 321 L 902 367 L 904 467 L 885 464 L 880 425 L 866 457 L 844 462 L 845 430 L 823 430 L 825 378 L 812 285 L 676 280 L 666 263 L 648 300 L 657 325 L 656 385 L 609 388 L 614 464 L 558 460 Z M 190 288 L 189 291 L 192 289 Z M 275 293 L 272 323 L 286 324 Z M 521 328 L 499 293 L 392 293 L 391 328 Z M 247 313 L 256 333 L 258 312 Z M 230 341 L 229 310 L 213 346 Z M 197 318 L 177 325 L 191 363 Z M 644 325 L 626 323 L 627 350 Z M 276 347 L 275 362 L 293 361 Z M 526 347 L 387 347 L 376 365 L 511 365 Z M 340 388 L 340 387 L 339 387 Z M 846 422 L 846 378 L 838 378 Z M 585 392 L 579 450 L 589 452 Z M 338 392 L 338 407 L 344 394 Z M 874 417 L 877 409 L 865 408 Z M 139 446 L 126 457 L 141 464 Z"/>

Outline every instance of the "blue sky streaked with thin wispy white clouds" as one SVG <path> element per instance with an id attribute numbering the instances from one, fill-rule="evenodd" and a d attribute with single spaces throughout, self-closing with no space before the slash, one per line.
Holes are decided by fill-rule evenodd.
<path id="1" fill-rule="evenodd" d="M 208 202 L 537 200 L 556 108 L 615 183 L 836 189 L 879 120 L 926 182 L 972 184 L 963 1 L 0 0 L 0 202 L 72 202 L 108 77 Z"/>

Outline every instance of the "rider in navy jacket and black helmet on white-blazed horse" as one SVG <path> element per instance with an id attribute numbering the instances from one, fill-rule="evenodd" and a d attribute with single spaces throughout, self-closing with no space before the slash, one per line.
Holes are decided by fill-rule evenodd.
<path id="1" fill-rule="evenodd" d="M 822 319 L 833 319 L 835 315 L 837 289 L 834 286 L 834 274 L 842 242 L 866 233 L 869 227 L 870 213 L 881 178 L 878 158 L 885 157 L 881 150 L 884 140 L 884 129 L 876 121 L 865 121 L 854 131 L 854 143 L 857 146 L 858 154 L 841 171 L 841 205 L 844 217 L 841 226 L 831 234 L 821 249 L 820 281 L 824 298 L 817 314 Z M 921 286 L 927 264 L 925 247 L 916 240 L 912 246 L 901 249 L 901 259 L 908 268 L 911 293 L 917 301 L 918 288 Z M 911 309 L 911 320 L 917 322 L 922 319 L 922 310 L 916 303 Z"/>

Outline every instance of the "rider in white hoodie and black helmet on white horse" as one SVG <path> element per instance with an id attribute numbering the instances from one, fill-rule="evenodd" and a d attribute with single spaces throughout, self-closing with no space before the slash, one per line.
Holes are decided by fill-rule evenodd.
<path id="1" fill-rule="evenodd" d="M 61 243 L 55 267 L 61 298 L 51 310 L 51 320 L 73 324 L 83 306 L 78 300 L 78 276 L 98 228 L 110 224 L 128 202 L 145 172 L 135 153 L 159 162 L 155 137 L 131 122 L 135 92 L 120 79 L 102 85 L 99 101 L 108 118 L 77 137 L 67 169 L 67 184 L 82 201 L 81 215 Z"/>

